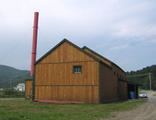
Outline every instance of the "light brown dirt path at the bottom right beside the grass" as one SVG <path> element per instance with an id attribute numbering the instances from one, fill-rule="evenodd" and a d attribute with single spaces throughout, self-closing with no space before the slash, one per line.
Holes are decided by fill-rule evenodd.
<path id="1" fill-rule="evenodd" d="M 156 120 L 156 96 L 149 96 L 147 103 L 126 112 L 115 113 L 108 120 Z"/>

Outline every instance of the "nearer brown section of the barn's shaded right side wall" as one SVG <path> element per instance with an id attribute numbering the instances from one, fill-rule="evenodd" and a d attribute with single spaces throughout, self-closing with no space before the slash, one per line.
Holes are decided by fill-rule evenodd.
<path id="1" fill-rule="evenodd" d="M 104 64 L 100 64 L 100 101 L 110 102 L 118 99 L 117 80 L 113 70 Z"/>

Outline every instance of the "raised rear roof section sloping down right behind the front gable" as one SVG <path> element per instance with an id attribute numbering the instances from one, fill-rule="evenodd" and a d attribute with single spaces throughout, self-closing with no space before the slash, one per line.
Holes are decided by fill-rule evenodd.
<path id="1" fill-rule="evenodd" d="M 103 57 L 102 55 L 98 54 L 97 52 L 93 51 L 92 49 L 90 49 L 90 48 L 88 48 L 88 47 L 86 47 L 86 46 L 84 46 L 82 49 L 83 49 L 84 51 L 89 51 L 91 54 L 95 55 L 98 59 L 101 59 L 105 64 L 108 64 L 108 63 L 109 63 L 108 65 L 111 65 L 111 66 L 114 65 L 114 66 L 116 66 L 117 68 L 119 68 L 122 72 L 125 73 L 125 71 L 124 71 L 123 69 L 121 69 L 118 65 L 116 65 L 115 63 L 113 63 L 113 62 L 110 61 L 109 59 Z M 106 61 L 107 61 L 107 62 L 106 62 Z"/>

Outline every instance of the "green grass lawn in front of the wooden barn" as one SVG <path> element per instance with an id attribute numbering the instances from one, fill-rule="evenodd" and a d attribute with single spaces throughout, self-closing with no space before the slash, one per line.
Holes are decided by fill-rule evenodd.
<path id="1" fill-rule="evenodd" d="M 24 99 L 0 99 L 0 120 L 99 120 L 133 109 L 143 100 L 110 104 L 43 104 Z"/>

